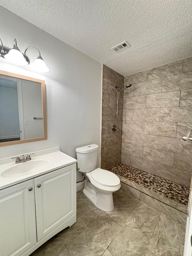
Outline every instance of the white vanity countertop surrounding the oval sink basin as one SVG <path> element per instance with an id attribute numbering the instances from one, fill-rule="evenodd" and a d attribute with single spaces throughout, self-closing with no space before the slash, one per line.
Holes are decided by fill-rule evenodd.
<path id="1" fill-rule="evenodd" d="M 29 152 L 30 153 L 30 152 Z M 27 155 L 29 153 L 25 153 Z M 31 152 L 32 153 L 32 152 Z M 45 167 L 41 167 L 40 169 L 36 169 L 28 174 L 24 174 L 18 177 L 2 177 L 1 174 L 13 166 L 18 166 L 25 163 L 15 164 L 15 159 L 11 159 L 11 157 L 1 158 L 0 159 L 0 189 L 10 187 L 12 185 L 18 184 L 20 182 L 35 178 L 37 176 L 43 175 L 45 173 L 49 173 L 53 170 L 57 170 L 59 168 L 65 167 L 70 164 L 74 164 L 77 162 L 75 158 L 70 157 L 60 151 L 59 147 L 45 149 L 36 151 L 34 155 L 31 155 L 32 160 L 41 160 L 41 159 L 49 159 L 49 164 Z"/>

